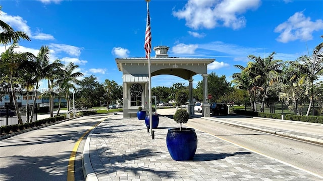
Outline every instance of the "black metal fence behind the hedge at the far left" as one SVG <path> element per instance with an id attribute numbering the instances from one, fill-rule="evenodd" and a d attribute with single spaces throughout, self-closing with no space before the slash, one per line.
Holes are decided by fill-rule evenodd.
<path id="1" fill-rule="evenodd" d="M 19 109 L 19 113 L 21 116 L 21 120 L 23 123 L 27 123 L 27 117 L 31 117 L 31 111 L 29 111 L 28 115 L 26 108 L 20 108 Z M 33 118 L 32 118 L 32 122 L 37 121 L 37 109 L 35 108 L 34 110 L 34 114 L 33 114 Z M 0 108 L 0 126 L 8 126 L 8 125 L 14 125 L 14 124 L 19 124 L 18 121 L 18 116 L 16 113 L 15 109 L 9 109 L 9 107 L 3 107 Z"/>

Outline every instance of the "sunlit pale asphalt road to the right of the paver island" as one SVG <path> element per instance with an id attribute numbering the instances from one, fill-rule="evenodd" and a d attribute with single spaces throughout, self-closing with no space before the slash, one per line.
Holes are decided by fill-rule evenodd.
<path id="1" fill-rule="evenodd" d="M 161 115 L 173 115 L 175 111 L 175 109 L 157 110 L 158 114 Z M 196 115 L 201 114 L 196 113 Z M 304 132 L 308 134 L 322 135 L 323 133 L 322 126 L 232 116 L 216 116 L 216 119 L 234 120 L 249 124 L 280 128 L 282 130 L 286 129 Z M 207 132 L 250 151 L 280 160 L 285 164 L 323 176 L 322 145 L 230 126 L 217 122 L 216 119 L 206 120 L 201 118 L 193 118 L 189 119 L 188 123 L 185 125 L 203 132 Z"/>

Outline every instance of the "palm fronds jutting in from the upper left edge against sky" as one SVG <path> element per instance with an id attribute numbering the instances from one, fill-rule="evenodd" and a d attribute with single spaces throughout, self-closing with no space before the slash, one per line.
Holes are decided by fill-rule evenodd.
<path id="1" fill-rule="evenodd" d="M 0 6 L 0 15 L 2 6 Z M 21 31 L 14 31 L 13 28 L 11 28 L 7 23 L 0 20 L 0 27 L 4 30 L 3 32 L 0 32 L 0 44 L 7 45 L 10 42 L 18 42 L 20 41 L 20 38 L 24 40 L 30 41 L 28 35 Z"/>

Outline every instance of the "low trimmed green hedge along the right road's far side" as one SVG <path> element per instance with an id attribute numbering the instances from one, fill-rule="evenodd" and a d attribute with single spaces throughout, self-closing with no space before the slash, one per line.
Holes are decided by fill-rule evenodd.
<path id="1" fill-rule="evenodd" d="M 246 116 L 256 116 L 262 118 L 274 118 L 274 119 L 282 119 L 281 114 L 272 114 L 272 113 L 259 113 L 259 112 L 252 112 L 252 111 L 245 111 L 245 110 L 233 110 L 234 113 L 239 115 L 246 115 Z M 292 121 L 302 121 L 302 122 L 309 122 L 309 123 L 323 123 L 323 117 L 317 116 L 298 116 L 298 115 L 285 115 L 286 120 Z"/>

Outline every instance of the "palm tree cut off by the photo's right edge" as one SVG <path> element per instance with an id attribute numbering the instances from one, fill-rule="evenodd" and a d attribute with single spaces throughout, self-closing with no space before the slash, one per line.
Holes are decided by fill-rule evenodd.
<path id="1" fill-rule="evenodd" d="M 323 38 L 323 36 L 321 36 L 321 38 Z M 293 68 L 300 70 L 301 76 L 298 83 L 306 84 L 305 93 L 309 95 L 309 105 L 306 113 L 306 116 L 308 116 L 313 102 L 314 81 L 317 80 L 319 76 L 323 75 L 323 42 L 314 48 L 310 57 L 303 55 L 296 61 L 288 62 L 288 64 Z"/>

